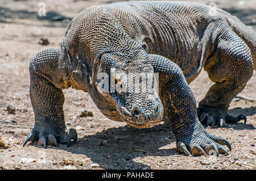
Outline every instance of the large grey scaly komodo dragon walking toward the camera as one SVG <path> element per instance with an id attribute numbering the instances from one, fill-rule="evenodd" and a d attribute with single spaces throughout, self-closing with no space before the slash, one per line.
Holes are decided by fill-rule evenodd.
<path id="1" fill-rule="evenodd" d="M 213 8 L 192 2 L 137 1 L 80 12 L 69 23 L 61 47 L 42 50 L 30 63 L 35 126 L 24 145 L 38 140 L 46 148 L 77 141 L 76 130 L 65 127 L 61 91 L 72 86 L 89 92 L 106 117 L 132 127 L 153 127 L 164 113 L 181 153 L 228 154 L 224 145 L 231 150 L 229 142 L 205 131 L 202 124 L 245 119 L 227 111 L 256 68 L 256 33 L 235 16 Z M 197 108 L 188 84 L 202 68 L 215 84 Z M 104 73 L 109 75 L 106 85 L 101 83 Z M 152 89 L 142 86 L 141 73 L 151 77 L 147 80 Z M 109 91 L 113 78 L 114 90 L 119 91 Z M 129 81 L 135 88 L 123 91 Z"/>

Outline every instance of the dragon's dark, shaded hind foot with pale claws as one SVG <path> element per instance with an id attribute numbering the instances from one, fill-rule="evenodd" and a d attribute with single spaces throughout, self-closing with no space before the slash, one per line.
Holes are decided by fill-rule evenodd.
<path id="1" fill-rule="evenodd" d="M 218 125 L 222 128 L 225 127 L 226 123 L 237 123 L 240 120 L 244 120 L 244 124 L 246 124 L 246 116 L 244 114 L 241 113 L 237 117 L 228 115 L 228 108 L 200 106 L 197 108 L 197 115 L 200 123 L 205 127 Z"/>

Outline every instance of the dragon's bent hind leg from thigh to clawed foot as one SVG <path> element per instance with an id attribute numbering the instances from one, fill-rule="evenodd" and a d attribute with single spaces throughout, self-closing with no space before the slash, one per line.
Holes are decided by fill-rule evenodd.
<path id="1" fill-rule="evenodd" d="M 215 82 L 199 103 L 197 114 L 202 124 L 225 127 L 225 123 L 237 123 L 246 116 L 228 115 L 232 99 L 243 90 L 253 74 L 250 49 L 230 28 L 224 28 L 216 38 L 214 53 L 204 65 L 209 78 Z"/>

